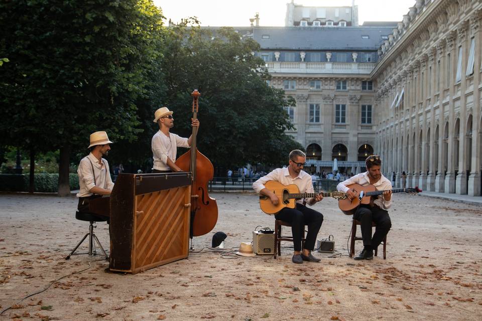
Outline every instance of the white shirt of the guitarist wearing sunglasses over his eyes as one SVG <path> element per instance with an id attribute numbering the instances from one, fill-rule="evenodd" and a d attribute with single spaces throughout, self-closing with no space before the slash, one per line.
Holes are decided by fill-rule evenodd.
<path id="1" fill-rule="evenodd" d="M 300 171 L 300 174 L 293 179 L 290 176 L 288 168 L 276 169 L 253 183 L 253 189 L 257 193 L 260 193 L 260 191 L 265 188 L 264 184 L 268 181 L 276 181 L 283 185 L 295 184 L 298 186 L 300 193 L 315 193 L 313 183 L 311 183 L 311 176 L 304 171 Z M 306 199 L 306 202 L 309 203 L 309 200 L 311 199 Z M 297 200 L 296 202 L 303 204 L 303 200 Z"/>

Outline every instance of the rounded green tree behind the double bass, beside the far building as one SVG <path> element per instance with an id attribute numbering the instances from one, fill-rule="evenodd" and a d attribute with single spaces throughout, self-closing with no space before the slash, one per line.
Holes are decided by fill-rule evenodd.
<path id="1" fill-rule="evenodd" d="M 215 166 L 279 165 L 291 149 L 302 148 L 285 133 L 293 127 L 284 107 L 294 100 L 267 84 L 264 62 L 252 55 L 257 42 L 232 28 L 213 33 L 182 25 L 164 35 L 165 103 L 175 111 L 175 131 L 189 135 L 190 93 L 198 89 L 198 148 Z"/>

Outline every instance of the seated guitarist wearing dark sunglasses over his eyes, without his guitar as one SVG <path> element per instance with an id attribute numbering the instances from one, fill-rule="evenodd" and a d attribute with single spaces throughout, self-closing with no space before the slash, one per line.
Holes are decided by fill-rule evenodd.
<path id="1" fill-rule="evenodd" d="M 279 198 L 264 184 L 268 181 L 277 181 L 283 185 L 295 184 L 299 188 L 300 193 L 314 193 L 313 184 L 311 183 L 311 176 L 302 171 L 305 165 L 306 155 L 299 149 L 290 152 L 288 168 L 276 169 L 268 175 L 260 178 L 253 183 L 253 189 L 262 195 L 270 198 L 274 205 L 278 205 Z M 279 211 L 275 218 L 277 220 L 285 221 L 291 224 L 291 232 L 293 234 L 294 255 L 293 263 L 303 263 L 303 261 L 319 262 L 320 259 L 314 257 L 311 251 L 315 247 L 316 236 L 320 230 L 321 223 L 323 223 L 323 215 L 315 210 L 307 208 L 304 204 L 308 202 L 313 206 L 323 199 L 322 194 L 318 194 L 314 198 L 306 200 L 298 200 L 296 208 L 284 208 Z M 308 225 L 308 233 L 306 235 L 306 242 L 303 251 L 301 250 L 301 234 L 305 225 Z"/>

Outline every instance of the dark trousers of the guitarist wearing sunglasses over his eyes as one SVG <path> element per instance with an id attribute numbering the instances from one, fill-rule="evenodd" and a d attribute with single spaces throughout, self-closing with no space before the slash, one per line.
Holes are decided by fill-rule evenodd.
<path id="1" fill-rule="evenodd" d="M 296 203 L 295 209 L 284 208 L 275 215 L 275 218 L 291 224 L 295 251 L 301 251 L 301 234 L 305 225 L 308 225 L 304 248 L 310 251 L 314 249 L 316 236 L 323 223 L 323 214 Z"/>

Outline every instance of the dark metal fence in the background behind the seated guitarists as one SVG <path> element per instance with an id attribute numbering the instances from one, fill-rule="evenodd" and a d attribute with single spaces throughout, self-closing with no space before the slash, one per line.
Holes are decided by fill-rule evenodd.
<path id="1" fill-rule="evenodd" d="M 212 181 L 209 181 L 209 192 L 212 191 L 248 191 L 253 192 L 253 183 L 258 180 L 257 178 L 228 178 L 228 177 L 215 177 Z M 313 188 L 315 192 L 334 192 L 336 191 L 336 185 L 339 182 L 336 180 L 319 179 L 313 182 Z"/>

